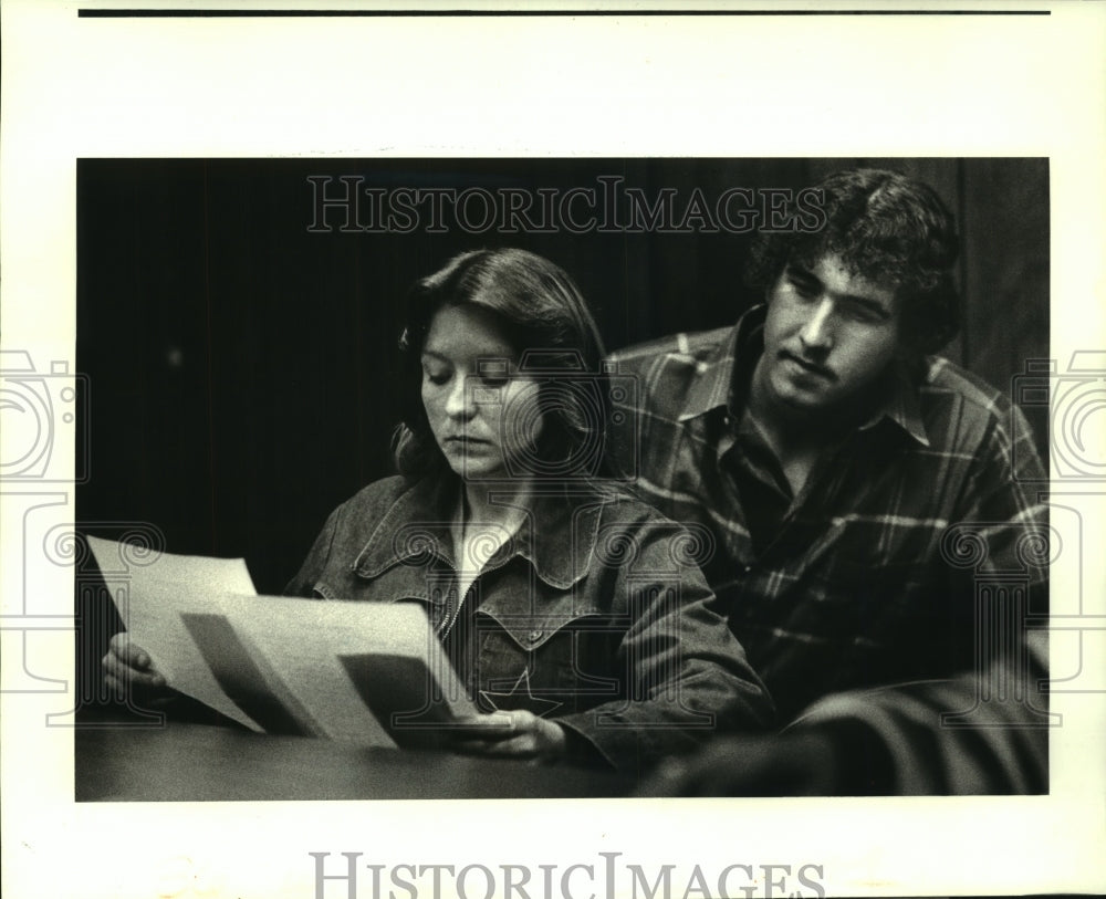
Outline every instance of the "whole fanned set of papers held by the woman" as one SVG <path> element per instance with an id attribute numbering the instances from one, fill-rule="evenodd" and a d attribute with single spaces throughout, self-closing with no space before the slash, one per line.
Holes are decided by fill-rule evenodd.
<path id="1" fill-rule="evenodd" d="M 88 543 L 168 683 L 251 730 L 426 746 L 476 711 L 417 605 L 259 597 L 242 560 L 169 553 L 113 583 L 118 544 Z"/>

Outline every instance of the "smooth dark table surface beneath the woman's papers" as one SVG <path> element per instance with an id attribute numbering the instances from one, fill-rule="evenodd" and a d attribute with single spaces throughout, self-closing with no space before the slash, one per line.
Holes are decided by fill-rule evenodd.
<path id="1" fill-rule="evenodd" d="M 210 724 L 104 722 L 79 726 L 75 741 L 77 802 L 583 798 L 633 788 L 601 771 Z"/>

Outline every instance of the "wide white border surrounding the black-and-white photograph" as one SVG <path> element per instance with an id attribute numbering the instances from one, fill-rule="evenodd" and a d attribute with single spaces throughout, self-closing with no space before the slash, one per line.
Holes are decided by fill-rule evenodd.
<path id="1" fill-rule="evenodd" d="M 1076 351 L 1106 347 L 1102 7 L 917 2 L 911 9 L 942 13 L 917 15 L 773 8 L 820 13 L 790 17 L 79 15 L 93 7 L 201 6 L 212 4 L 13 0 L 0 9 L 4 349 L 73 370 L 75 163 L 128 156 L 1047 157 L 1052 356 L 1063 366 Z M 449 8 L 403 9 L 416 6 Z M 711 6 L 719 13 L 763 8 Z M 969 8 L 1018 14 L 953 14 Z M 623 10 L 660 11 L 644 3 Z M 1100 419 L 1086 433 L 1097 446 Z M 1106 488 L 1053 488 L 1085 510 L 1084 545 L 1106 545 Z M 538 871 L 553 864 L 559 878 L 572 865 L 598 868 L 601 853 L 620 853 L 623 863 L 651 871 L 677 866 L 680 896 L 693 866 L 706 872 L 734 864 L 818 865 L 828 895 L 1106 889 L 1100 692 L 1053 698 L 1064 724 L 1053 734 L 1051 793 L 1037 797 L 77 805 L 72 731 L 43 724 L 45 714 L 73 705 L 71 684 L 70 692 L 56 688 L 72 670 L 64 621 L 72 585 L 66 569 L 20 540 L 29 504 L 52 504 L 59 523 L 74 521 L 72 485 L 4 483 L 0 494 L 9 897 L 313 897 L 311 851 L 331 853 L 332 861 L 362 853 L 363 863 L 385 866 Z M 1085 614 L 1104 615 L 1100 563 L 1083 583 Z M 1054 590 L 1074 588 L 1054 581 Z M 1100 634 L 1086 647 L 1084 663 L 1102 665 Z M 24 651 L 38 676 L 55 679 L 50 690 L 11 691 L 27 675 Z M 586 878 L 580 884 L 585 896 L 593 891 Z M 334 884 L 325 895 L 345 892 Z M 357 895 L 372 896 L 367 882 Z"/>

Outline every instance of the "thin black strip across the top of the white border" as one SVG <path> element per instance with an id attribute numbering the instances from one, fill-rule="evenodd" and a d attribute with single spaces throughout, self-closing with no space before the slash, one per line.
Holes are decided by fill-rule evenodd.
<path id="1" fill-rule="evenodd" d="M 257 9 L 80 9 L 81 19 L 457 19 L 457 18 L 641 18 L 650 15 L 1051 15 L 1050 10 L 257 10 Z"/>

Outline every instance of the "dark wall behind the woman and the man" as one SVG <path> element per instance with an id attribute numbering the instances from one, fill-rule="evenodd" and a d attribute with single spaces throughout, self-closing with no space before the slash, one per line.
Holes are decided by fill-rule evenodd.
<path id="1" fill-rule="evenodd" d="M 695 187 L 712 202 L 859 164 L 924 178 L 957 215 L 966 321 L 947 355 L 1009 390 L 1048 355 L 1044 159 L 81 160 L 92 477 L 79 519 L 150 522 L 169 552 L 244 556 L 258 590 L 279 593 L 326 514 L 390 473 L 398 306 L 461 250 L 517 245 L 562 265 L 608 349 L 730 324 L 758 299 L 741 282 L 749 236 L 311 233 L 309 175 L 489 190 L 617 175 L 650 198 L 676 188 L 680 208 Z"/>

